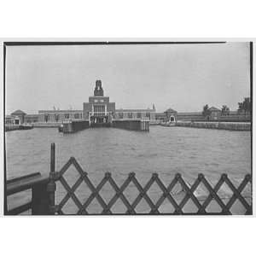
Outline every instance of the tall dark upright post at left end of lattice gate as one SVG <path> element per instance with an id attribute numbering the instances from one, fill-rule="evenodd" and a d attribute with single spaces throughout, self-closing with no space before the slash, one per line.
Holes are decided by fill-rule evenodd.
<path id="1" fill-rule="evenodd" d="M 55 143 L 50 145 L 50 172 L 47 191 L 49 193 L 49 214 L 55 214 Z"/>

